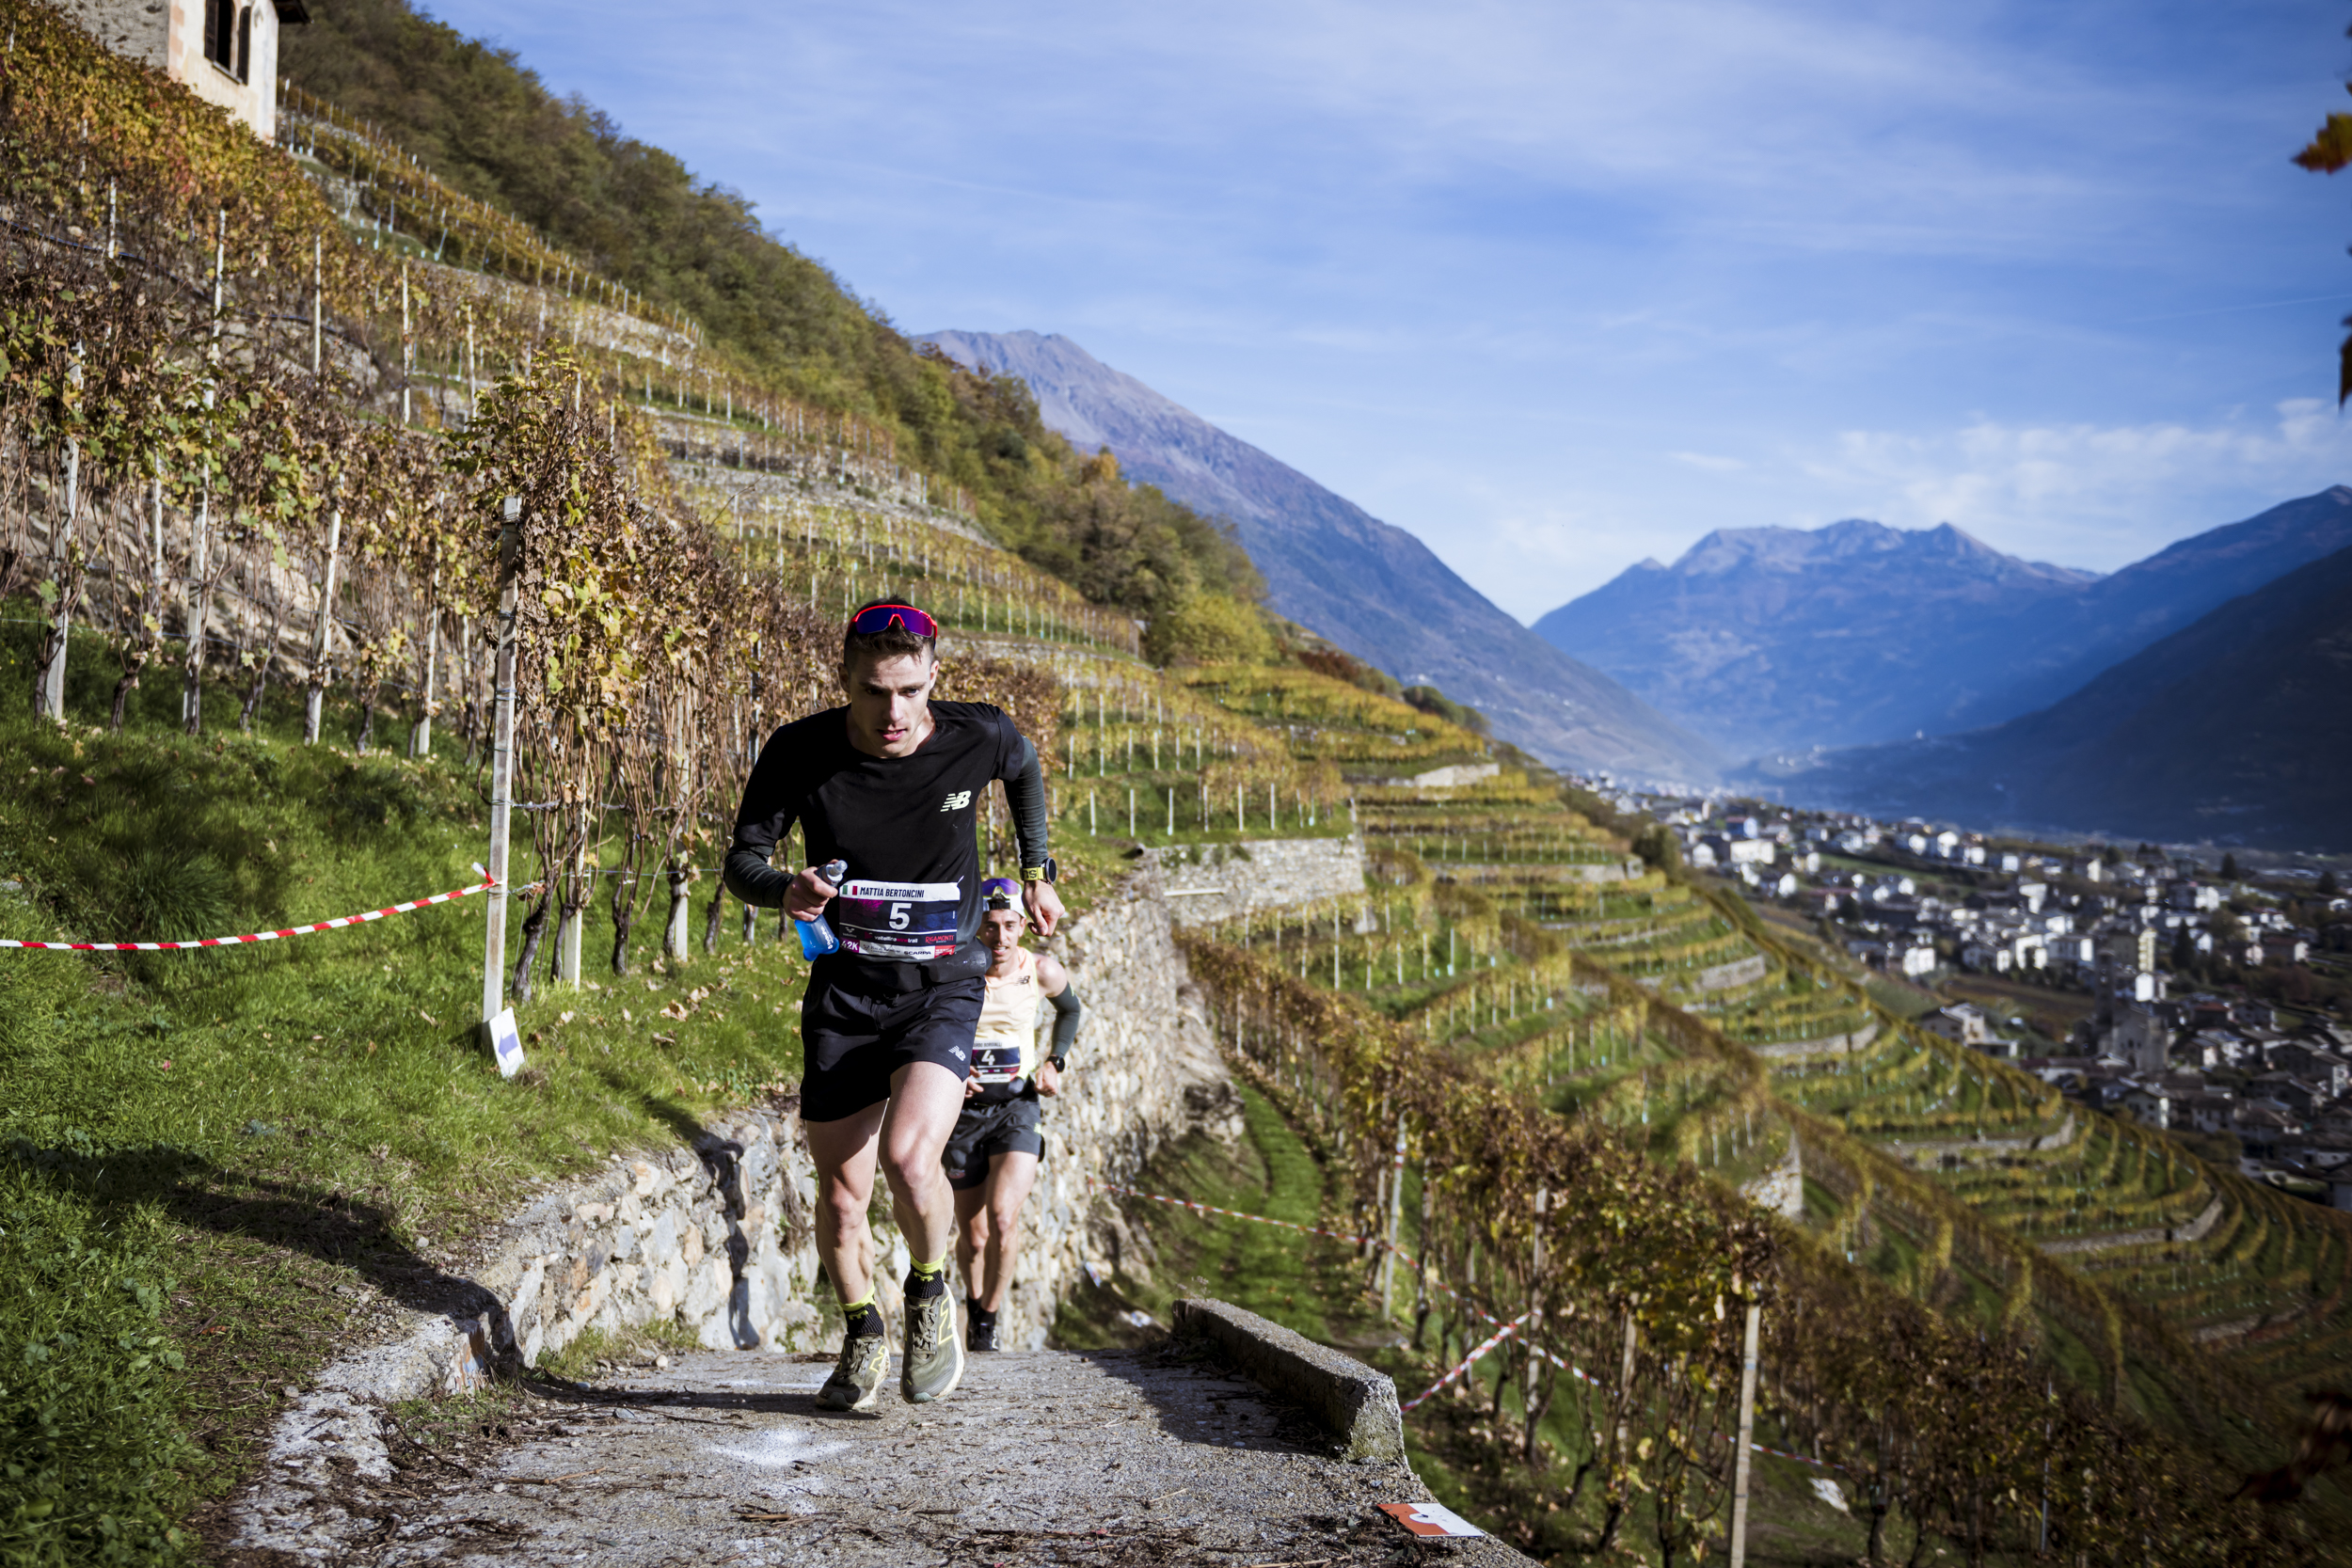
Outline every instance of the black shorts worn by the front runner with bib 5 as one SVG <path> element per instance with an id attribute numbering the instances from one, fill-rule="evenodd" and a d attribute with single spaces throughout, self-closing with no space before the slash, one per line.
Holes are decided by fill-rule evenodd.
<path id="1" fill-rule="evenodd" d="M 971 1077 L 971 1034 L 981 1027 L 988 983 L 946 980 L 894 990 L 906 966 L 818 959 L 800 999 L 800 1119 L 840 1121 L 889 1098 L 889 1079 L 908 1063 L 938 1063 Z"/>

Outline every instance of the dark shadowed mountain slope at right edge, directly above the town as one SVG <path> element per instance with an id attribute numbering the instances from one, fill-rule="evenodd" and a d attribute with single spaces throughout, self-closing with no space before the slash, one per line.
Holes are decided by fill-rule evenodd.
<path id="1" fill-rule="evenodd" d="M 2352 548 L 2230 599 L 2039 712 L 1766 764 L 1757 778 L 1806 804 L 1980 825 L 2352 849 Z"/>

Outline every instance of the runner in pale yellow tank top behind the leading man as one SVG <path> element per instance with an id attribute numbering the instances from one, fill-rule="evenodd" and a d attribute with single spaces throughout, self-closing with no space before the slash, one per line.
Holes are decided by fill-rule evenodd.
<path id="1" fill-rule="evenodd" d="M 971 1039 L 964 1114 L 941 1164 L 955 1190 L 955 1262 L 964 1274 L 967 1349 L 997 1347 L 997 1312 L 1014 1284 L 1021 1251 L 1021 1204 L 1044 1159 L 1040 1095 L 1061 1093 L 1077 1039 L 1077 990 L 1056 959 L 1028 952 L 1021 889 L 1004 877 L 983 884 L 981 940 L 988 943 L 988 994 Z M 1037 1004 L 1054 1004 L 1054 1048 L 1037 1048 Z"/>

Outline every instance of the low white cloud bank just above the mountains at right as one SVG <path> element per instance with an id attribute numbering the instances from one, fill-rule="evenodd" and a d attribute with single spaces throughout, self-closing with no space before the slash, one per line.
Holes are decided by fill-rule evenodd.
<path id="1" fill-rule="evenodd" d="M 1849 430 L 1835 451 L 1799 468 L 1851 498 L 1837 515 L 1893 527 L 1952 522 L 2002 550 L 2112 571 L 2187 534 L 2345 482 L 2352 425 L 2314 397 L 2213 425 L 1980 418 L 1947 435 Z"/>

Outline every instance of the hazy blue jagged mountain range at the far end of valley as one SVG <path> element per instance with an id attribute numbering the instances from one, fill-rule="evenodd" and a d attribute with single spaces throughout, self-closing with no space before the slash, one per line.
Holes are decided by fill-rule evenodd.
<path id="1" fill-rule="evenodd" d="M 1945 524 L 1719 529 L 1536 630 L 1731 755 L 1999 724 L 2216 607 L 2352 545 L 2352 489 L 2274 505 L 2112 576 Z"/>

